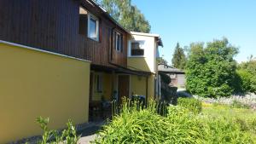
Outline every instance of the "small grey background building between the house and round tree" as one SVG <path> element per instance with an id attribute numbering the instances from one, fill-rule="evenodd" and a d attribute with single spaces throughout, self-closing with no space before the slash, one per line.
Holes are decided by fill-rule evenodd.
<path id="1" fill-rule="evenodd" d="M 176 86 L 178 88 L 185 87 L 186 78 L 185 72 L 179 70 L 177 68 L 173 68 L 172 66 L 168 66 L 166 64 L 160 64 L 158 66 L 159 73 L 165 73 L 171 78 L 171 86 Z"/>

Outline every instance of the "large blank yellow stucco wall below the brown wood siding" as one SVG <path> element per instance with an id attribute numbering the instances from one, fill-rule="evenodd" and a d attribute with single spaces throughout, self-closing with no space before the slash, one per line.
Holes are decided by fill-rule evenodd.
<path id="1" fill-rule="evenodd" d="M 90 62 L 0 43 L 0 143 L 88 121 Z"/>

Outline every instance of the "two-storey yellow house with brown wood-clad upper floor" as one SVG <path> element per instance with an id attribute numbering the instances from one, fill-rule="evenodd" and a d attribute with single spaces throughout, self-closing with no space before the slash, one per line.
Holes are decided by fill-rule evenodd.
<path id="1" fill-rule="evenodd" d="M 0 1 L 0 143 L 88 122 L 101 101 L 157 96 L 160 37 L 128 32 L 93 0 Z M 90 111 L 90 110 L 92 111 Z"/>

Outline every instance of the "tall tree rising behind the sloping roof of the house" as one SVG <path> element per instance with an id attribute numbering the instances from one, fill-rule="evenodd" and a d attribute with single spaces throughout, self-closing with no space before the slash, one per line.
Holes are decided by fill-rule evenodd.
<path id="1" fill-rule="evenodd" d="M 131 0 L 97 0 L 104 9 L 125 29 L 133 32 L 150 32 L 150 25 L 144 14 L 131 5 Z"/>

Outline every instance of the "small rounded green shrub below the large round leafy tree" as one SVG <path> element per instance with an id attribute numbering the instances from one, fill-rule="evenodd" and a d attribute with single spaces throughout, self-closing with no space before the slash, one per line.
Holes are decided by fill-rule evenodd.
<path id="1" fill-rule="evenodd" d="M 190 112 L 201 112 L 201 101 L 194 98 L 178 98 L 177 105 L 187 108 Z"/>

